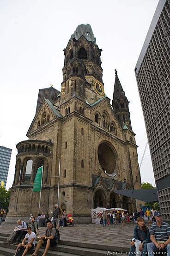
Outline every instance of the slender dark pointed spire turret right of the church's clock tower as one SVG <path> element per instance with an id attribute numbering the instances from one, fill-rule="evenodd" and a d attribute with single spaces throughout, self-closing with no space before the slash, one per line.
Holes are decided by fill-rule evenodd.
<path id="1" fill-rule="evenodd" d="M 123 128 L 124 125 L 126 125 L 129 130 L 132 130 L 128 104 L 128 99 L 125 96 L 125 92 L 117 76 L 117 70 L 115 70 L 115 85 L 112 107 L 119 123 L 121 124 L 121 127 Z"/>

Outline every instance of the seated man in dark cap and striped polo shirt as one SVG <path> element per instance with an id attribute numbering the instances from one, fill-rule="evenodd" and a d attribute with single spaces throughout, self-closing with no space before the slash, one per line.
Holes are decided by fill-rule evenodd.
<path id="1" fill-rule="evenodd" d="M 170 225 L 163 222 L 160 211 L 155 212 L 156 222 L 151 225 L 151 241 L 147 244 L 149 256 L 153 256 L 154 252 L 164 251 L 170 256 Z"/>

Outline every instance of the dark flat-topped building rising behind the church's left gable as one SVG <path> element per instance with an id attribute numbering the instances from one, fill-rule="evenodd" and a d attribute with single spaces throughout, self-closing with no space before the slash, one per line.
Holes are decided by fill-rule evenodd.
<path id="1" fill-rule="evenodd" d="M 36 112 L 40 108 L 44 98 L 48 99 L 52 104 L 55 104 L 55 98 L 59 94 L 60 94 L 60 91 L 56 90 L 52 86 L 48 88 L 40 89 L 38 93 L 37 104 L 36 104 Z"/>

